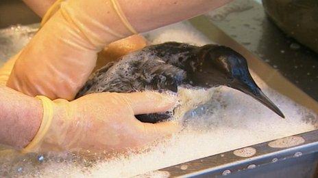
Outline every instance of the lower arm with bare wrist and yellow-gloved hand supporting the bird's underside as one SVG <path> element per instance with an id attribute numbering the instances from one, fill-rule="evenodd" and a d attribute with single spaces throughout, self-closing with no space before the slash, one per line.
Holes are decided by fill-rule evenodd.
<path id="1" fill-rule="evenodd" d="M 26 152 L 122 151 L 167 136 L 178 130 L 173 122 L 142 123 L 134 115 L 162 112 L 174 100 L 158 93 L 98 93 L 68 102 L 43 102 L 0 86 L 0 144 Z M 49 111 L 49 130 L 38 131 Z M 42 130 L 42 129 L 41 129 Z M 39 138 L 39 135 L 42 138 Z M 35 140 L 37 136 L 37 140 Z M 29 147 L 30 143 L 35 143 Z"/>

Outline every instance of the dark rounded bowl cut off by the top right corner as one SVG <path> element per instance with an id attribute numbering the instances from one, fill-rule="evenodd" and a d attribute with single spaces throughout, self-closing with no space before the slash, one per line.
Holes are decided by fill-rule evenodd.
<path id="1" fill-rule="evenodd" d="M 282 31 L 318 53 L 317 0 L 262 0 L 262 3 Z"/>

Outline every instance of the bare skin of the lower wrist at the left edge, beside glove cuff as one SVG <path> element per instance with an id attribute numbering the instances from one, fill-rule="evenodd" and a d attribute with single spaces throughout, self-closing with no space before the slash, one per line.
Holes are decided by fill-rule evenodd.
<path id="1" fill-rule="evenodd" d="M 0 144 L 25 147 L 40 127 L 41 102 L 0 86 L 0 110 Z"/>

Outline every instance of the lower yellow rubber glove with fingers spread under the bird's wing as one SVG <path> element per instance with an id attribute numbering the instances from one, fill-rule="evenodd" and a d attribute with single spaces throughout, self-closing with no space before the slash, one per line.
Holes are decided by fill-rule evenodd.
<path id="1" fill-rule="evenodd" d="M 43 117 L 38 133 L 23 152 L 123 151 L 173 134 L 173 121 L 142 123 L 134 115 L 158 113 L 175 98 L 154 92 L 94 93 L 68 102 L 38 96 Z"/>

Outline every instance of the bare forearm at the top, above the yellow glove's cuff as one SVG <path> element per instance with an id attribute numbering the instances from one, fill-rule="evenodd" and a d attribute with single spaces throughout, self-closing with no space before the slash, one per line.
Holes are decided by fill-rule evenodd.
<path id="1" fill-rule="evenodd" d="M 136 31 L 145 32 L 204 14 L 232 0 L 117 1 Z"/>

